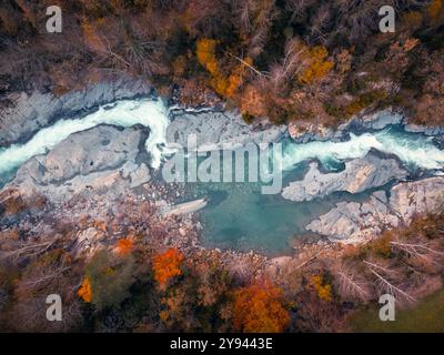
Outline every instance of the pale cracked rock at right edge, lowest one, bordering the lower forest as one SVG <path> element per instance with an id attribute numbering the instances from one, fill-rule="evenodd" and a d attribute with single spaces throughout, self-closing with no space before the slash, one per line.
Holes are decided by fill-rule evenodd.
<path id="1" fill-rule="evenodd" d="M 341 202 L 312 221 L 306 230 L 331 241 L 360 243 L 400 224 L 408 225 L 416 213 L 434 212 L 444 199 L 444 178 L 403 182 L 385 192 L 373 193 L 365 202 Z"/>

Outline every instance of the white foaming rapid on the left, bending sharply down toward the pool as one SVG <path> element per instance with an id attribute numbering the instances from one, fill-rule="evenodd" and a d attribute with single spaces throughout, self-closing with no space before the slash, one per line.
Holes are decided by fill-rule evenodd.
<path id="1" fill-rule="evenodd" d="M 149 126 L 150 135 L 145 148 L 152 156 L 151 166 L 159 169 L 162 159 L 161 145 L 165 143 L 169 124 L 168 110 L 161 100 L 142 99 L 122 100 L 103 105 L 81 119 L 61 119 L 53 125 L 40 130 L 24 144 L 13 144 L 7 149 L 0 148 L 0 174 L 20 166 L 34 155 L 46 153 L 70 134 L 99 124 L 125 128 L 134 124 Z"/>

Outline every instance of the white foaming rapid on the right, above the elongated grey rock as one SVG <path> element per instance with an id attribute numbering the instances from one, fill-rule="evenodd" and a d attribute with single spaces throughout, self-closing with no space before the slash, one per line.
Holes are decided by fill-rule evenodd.
<path id="1" fill-rule="evenodd" d="M 319 159 L 322 163 L 343 161 L 365 156 L 371 149 L 397 155 L 407 165 L 433 170 L 444 168 L 444 151 L 433 142 L 433 138 L 411 134 L 385 129 L 376 133 L 355 135 L 346 142 L 310 142 L 304 144 L 291 143 L 285 146 L 282 156 L 284 170 L 291 170 L 296 164 Z"/>

